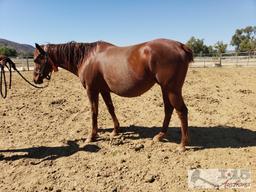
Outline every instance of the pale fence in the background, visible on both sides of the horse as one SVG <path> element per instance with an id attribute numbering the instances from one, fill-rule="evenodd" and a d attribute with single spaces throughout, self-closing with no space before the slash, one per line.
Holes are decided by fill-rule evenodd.
<path id="1" fill-rule="evenodd" d="M 11 58 L 19 70 L 29 71 L 34 69 L 32 57 Z M 250 67 L 256 66 L 256 51 L 228 52 L 217 55 L 200 55 L 194 57 L 190 67 Z"/>

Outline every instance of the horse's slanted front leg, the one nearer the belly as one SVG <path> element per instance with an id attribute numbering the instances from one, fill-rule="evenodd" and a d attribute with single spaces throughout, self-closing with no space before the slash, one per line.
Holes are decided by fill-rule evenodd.
<path id="1" fill-rule="evenodd" d="M 112 133 L 110 134 L 110 138 L 112 139 L 119 132 L 120 126 L 119 126 L 119 122 L 118 122 L 118 119 L 115 114 L 115 108 L 114 108 L 110 93 L 102 92 L 101 95 L 103 97 L 103 100 L 104 100 L 107 108 L 108 108 L 108 112 L 110 113 L 112 120 L 114 122 L 114 129 L 113 129 Z"/>

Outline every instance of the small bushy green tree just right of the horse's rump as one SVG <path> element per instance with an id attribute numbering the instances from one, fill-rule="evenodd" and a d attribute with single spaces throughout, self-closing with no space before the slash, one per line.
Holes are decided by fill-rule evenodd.
<path id="1" fill-rule="evenodd" d="M 203 54 L 209 54 L 208 47 L 204 44 L 203 39 L 197 39 L 195 37 L 191 37 L 186 45 L 192 49 L 193 53 L 195 55 L 203 55 Z"/>

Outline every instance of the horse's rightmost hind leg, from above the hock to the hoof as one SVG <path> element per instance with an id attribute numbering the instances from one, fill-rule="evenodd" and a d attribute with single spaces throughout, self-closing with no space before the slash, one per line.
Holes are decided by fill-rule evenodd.
<path id="1" fill-rule="evenodd" d="M 181 91 L 172 92 L 169 91 L 169 100 L 171 105 L 177 111 L 179 119 L 181 121 L 181 151 L 185 151 L 185 146 L 188 145 L 188 109 L 183 101 Z"/>

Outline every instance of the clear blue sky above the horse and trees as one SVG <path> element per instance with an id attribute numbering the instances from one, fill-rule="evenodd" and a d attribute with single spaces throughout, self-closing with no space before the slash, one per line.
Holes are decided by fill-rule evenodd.
<path id="1" fill-rule="evenodd" d="M 256 0 L 0 0 L 0 38 L 30 45 L 192 36 L 213 45 L 249 25 Z"/>

